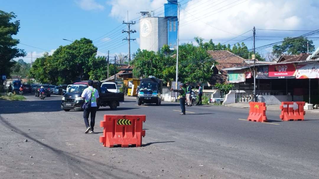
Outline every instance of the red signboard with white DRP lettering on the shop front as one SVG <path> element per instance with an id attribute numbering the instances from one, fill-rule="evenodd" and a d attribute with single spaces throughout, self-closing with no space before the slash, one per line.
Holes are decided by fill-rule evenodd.
<path id="1" fill-rule="evenodd" d="M 295 76 L 296 67 L 294 64 L 280 64 L 280 65 L 269 65 L 269 76 L 280 77 L 280 76 Z"/>

